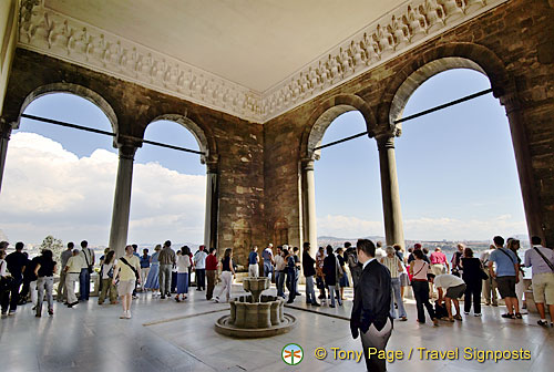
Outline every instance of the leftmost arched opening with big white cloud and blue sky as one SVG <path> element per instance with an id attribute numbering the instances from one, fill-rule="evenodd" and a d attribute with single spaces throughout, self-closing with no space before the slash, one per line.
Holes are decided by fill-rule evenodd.
<path id="1" fill-rule="evenodd" d="M 28 96 L 21 112 L 105 132 L 116 126 L 107 103 L 76 85 L 43 86 Z M 109 136 L 21 118 L 7 155 L 2 230 L 31 251 L 48 235 L 64 242 L 85 239 L 91 248 L 106 246 L 116 168 Z"/>

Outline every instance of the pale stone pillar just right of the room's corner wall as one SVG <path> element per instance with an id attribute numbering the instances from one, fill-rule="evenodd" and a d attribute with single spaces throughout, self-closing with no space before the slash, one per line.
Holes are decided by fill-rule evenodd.
<path id="1" fill-rule="evenodd" d="M 301 161 L 302 175 L 302 229 L 304 240 L 310 242 L 310 255 L 315 257 L 317 245 L 317 219 L 316 219 L 316 177 L 314 175 L 314 159 Z M 304 241 L 301 241 L 304 244 Z M 300 244 L 300 246 L 301 246 Z"/>

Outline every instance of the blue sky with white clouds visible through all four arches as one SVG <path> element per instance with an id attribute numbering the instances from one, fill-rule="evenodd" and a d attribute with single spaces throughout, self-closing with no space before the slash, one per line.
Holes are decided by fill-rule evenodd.
<path id="1" fill-rule="evenodd" d="M 443 72 L 413 93 L 404 115 L 486 87 L 479 72 Z M 100 108 L 71 94 L 39 97 L 25 113 L 111 131 Z M 322 143 L 365 130 L 360 113 L 346 113 Z M 198 149 L 194 136 L 173 122 L 150 124 L 145 138 Z M 107 245 L 117 169 L 112 141 L 22 120 L 10 140 L 0 194 L 4 235 L 34 244 L 51 234 Z M 396 156 L 407 239 L 484 240 L 526 231 L 507 120 L 491 94 L 403 123 Z M 205 172 L 198 155 L 138 148 L 129 241 L 202 242 Z M 322 149 L 315 175 L 319 236 L 384 234 L 375 140 Z"/>

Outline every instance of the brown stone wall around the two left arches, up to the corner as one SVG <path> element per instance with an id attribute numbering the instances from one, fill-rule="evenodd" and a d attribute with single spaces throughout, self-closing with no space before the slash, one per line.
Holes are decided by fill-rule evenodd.
<path id="1" fill-rule="evenodd" d="M 95 103 L 104 100 L 101 108 L 113 110 L 116 117 L 116 141 L 143 138 L 148 123 L 165 114 L 194 122 L 207 141 L 207 163 L 219 173 L 218 248 L 234 247 L 238 264 L 246 264 L 248 246 L 264 245 L 263 125 L 22 49 L 16 51 L 1 121 L 17 122 L 29 103 L 25 99 L 32 92 L 44 93 L 41 87 L 48 85 L 55 86 L 54 91 L 66 87 Z"/>

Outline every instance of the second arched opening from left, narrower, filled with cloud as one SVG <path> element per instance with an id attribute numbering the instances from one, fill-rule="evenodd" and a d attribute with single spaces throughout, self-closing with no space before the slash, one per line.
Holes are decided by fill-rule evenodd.
<path id="1" fill-rule="evenodd" d="M 191 123 L 163 116 L 148 124 L 144 138 L 205 151 L 203 133 Z M 136 152 L 133 178 L 129 241 L 151 252 L 165 240 L 193 252 L 204 244 L 206 166 L 199 155 L 145 144 Z"/>

